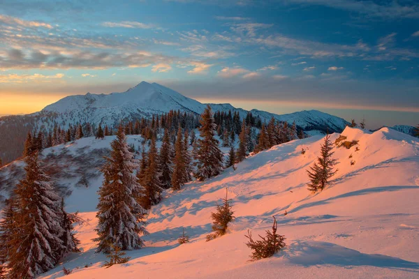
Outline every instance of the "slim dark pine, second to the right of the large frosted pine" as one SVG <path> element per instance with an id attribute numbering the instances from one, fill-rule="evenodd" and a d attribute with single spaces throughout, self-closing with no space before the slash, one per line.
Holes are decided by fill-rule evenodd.
<path id="1" fill-rule="evenodd" d="M 173 148 L 170 143 L 170 135 L 168 129 L 164 129 L 163 142 L 161 143 L 159 154 L 159 168 L 161 187 L 168 189 L 172 187 L 172 173 L 173 173 Z"/>

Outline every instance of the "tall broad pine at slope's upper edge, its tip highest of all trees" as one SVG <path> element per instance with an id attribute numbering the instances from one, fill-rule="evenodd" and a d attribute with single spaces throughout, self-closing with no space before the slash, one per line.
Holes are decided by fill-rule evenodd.
<path id="1" fill-rule="evenodd" d="M 210 105 L 207 105 L 200 119 L 200 139 L 198 140 L 198 170 L 196 179 L 204 181 L 218 175 L 223 169 L 223 153 L 219 149 L 219 141 L 214 137 L 216 124 Z"/>

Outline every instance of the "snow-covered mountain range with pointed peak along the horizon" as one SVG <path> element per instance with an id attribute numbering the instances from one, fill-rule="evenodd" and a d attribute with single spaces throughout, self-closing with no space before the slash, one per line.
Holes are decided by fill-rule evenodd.
<path id="1" fill-rule="evenodd" d="M 212 110 L 239 112 L 244 118 L 248 111 L 235 108 L 230 104 L 210 104 Z M 165 86 L 156 83 L 141 82 L 122 93 L 91 94 L 67 96 L 47 105 L 41 112 L 22 116 L 0 117 L 0 158 L 8 163 L 22 154 L 23 143 L 29 130 L 52 130 L 54 126 L 68 128 L 76 123 L 99 123 L 115 127 L 121 121 L 131 121 L 141 117 L 150 118 L 153 114 L 162 114 L 170 110 L 201 114 L 207 104 L 187 98 Z M 260 110 L 251 110 L 253 116 L 260 116 L 263 121 L 272 117 L 279 121 L 295 123 L 307 134 L 316 135 L 341 132 L 348 124 L 337 116 L 316 110 L 294 112 L 292 114 L 272 114 Z"/>

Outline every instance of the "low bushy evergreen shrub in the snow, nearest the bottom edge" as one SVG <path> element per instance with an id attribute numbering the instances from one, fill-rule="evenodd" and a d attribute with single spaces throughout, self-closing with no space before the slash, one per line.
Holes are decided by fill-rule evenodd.
<path id="1" fill-rule="evenodd" d="M 277 234 L 277 219 L 275 217 L 272 232 L 266 231 L 265 237 L 259 235 L 260 240 L 254 241 L 249 230 L 247 231 L 246 237 L 249 239 L 249 242 L 246 243 L 247 247 L 253 250 L 250 256 L 252 261 L 272 257 L 276 252 L 279 252 L 279 250 L 286 246 L 284 242 L 285 237 Z"/>

